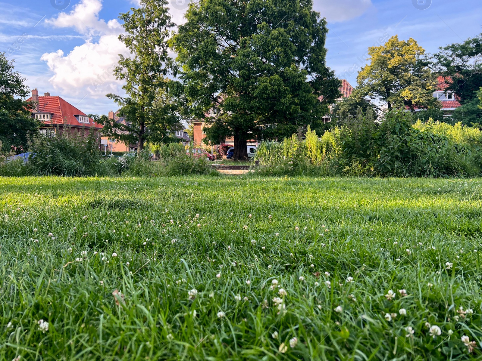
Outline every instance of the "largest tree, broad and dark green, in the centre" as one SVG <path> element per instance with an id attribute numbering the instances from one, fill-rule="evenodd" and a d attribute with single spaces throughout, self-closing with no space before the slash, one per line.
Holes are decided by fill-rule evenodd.
<path id="1" fill-rule="evenodd" d="M 171 42 L 184 92 L 194 116 L 214 108 L 206 140 L 234 136 L 235 158 L 249 139 L 317 129 L 340 95 L 311 0 L 198 0 L 186 18 Z"/>

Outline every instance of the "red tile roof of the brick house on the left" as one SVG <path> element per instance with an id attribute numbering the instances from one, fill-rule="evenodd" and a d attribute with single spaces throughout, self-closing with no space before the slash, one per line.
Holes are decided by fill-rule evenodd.
<path id="1" fill-rule="evenodd" d="M 32 98 L 28 99 L 29 101 Z M 52 113 L 52 119 L 43 120 L 45 124 L 68 124 L 76 128 L 92 128 L 102 129 L 101 124 L 95 123 L 92 118 L 89 118 L 89 123 L 80 123 L 75 116 L 87 116 L 81 110 L 77 109 L 70 103 L 58 96 L 39 96 L 38 113 Z"/>

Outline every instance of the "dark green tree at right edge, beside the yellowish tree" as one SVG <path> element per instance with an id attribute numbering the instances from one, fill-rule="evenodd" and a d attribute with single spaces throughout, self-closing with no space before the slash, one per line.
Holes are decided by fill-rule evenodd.
<path id="1" fill-rule="evenodd" d="M 441 47 L 432 57 L 432 66 L 442 76 L 452 77 L 448 90 L 455 92 L 460 103 L 470 103 L 482 87 L 482 34 Z"/>

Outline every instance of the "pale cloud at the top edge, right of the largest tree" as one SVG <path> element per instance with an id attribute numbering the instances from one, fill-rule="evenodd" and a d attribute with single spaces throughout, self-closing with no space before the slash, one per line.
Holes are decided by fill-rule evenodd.
<path id="1" fill-rule="evenodd" d="M 371 0 L 314 0 L 313 7 L 330 22 L 347 21 L 362 15 L 372 6 Z"/>

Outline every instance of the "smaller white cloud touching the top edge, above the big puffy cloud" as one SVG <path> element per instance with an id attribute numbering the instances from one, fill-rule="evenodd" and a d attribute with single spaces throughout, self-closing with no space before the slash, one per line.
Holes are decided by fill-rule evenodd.
<path id="1" fill-rule="evenodd" d="M 56 18 L 46 19 L 45 23 L 55 27 L 73 27 L 80 34 L 120 34 L 122 26 L 116 19 L 99 19 L 102 10 L 101 0 L 81 0 L 70 13 L 60 13 Z"/>

